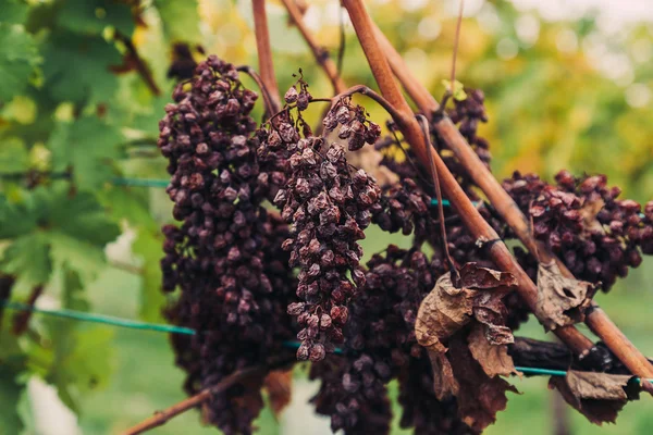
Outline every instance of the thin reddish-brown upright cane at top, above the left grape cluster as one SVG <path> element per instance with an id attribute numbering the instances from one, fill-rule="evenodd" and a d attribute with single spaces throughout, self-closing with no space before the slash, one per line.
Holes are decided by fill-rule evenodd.
<path id="1" fill-rule="evenodd" d="M 281 109 L 279 98 L 279 85 L 274 76 L 274 63 L 272 62 L 272 48 L 270 47 L 270 32 L 268 30 L 268 15 L 266 14 L 266 0 L 252 0 L 254 32 L 256 34 L 256 48 L 259 59 L 259 71 L 261 79 L 270 96 L 270 104 L 274 108 L 270 112 L 276 113 Z"/>

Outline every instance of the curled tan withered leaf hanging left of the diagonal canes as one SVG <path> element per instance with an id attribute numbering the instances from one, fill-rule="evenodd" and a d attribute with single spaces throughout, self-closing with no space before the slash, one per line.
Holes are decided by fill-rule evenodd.
<path id="1" fill-rule="evenodd" d="M 415 322 L 417 341 L 428 350 L 444 352 L 441 341 L 471 320 L 475 295 L 471 289 L 454 287 L 451 272 L 442 275 L 419 307 Z"/>

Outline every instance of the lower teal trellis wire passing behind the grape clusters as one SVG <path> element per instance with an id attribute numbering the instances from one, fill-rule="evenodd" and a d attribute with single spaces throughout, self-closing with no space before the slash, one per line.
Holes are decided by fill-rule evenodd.
<path id="1" fill-rule="evenodd" d="M 155 331 L 159 333 L 171 333 L 171 334 L 183 334 L 183 335 L 195 335 L 197 331 L 192 330 L 189 327 L 183 326 L 174 326 L 174 325 L 165 325 L 161 323 L 148 323 L 141 322 L 137 320 L 115 318 L 112 315 L 97 314 L 97 313 L 88 313 L 84 311 L 76 310 L 47 310 L 42 308 L 36 308 L 29 306 L 27 303 L 22 302 L 10 302 L 2 301 L 0 302 L 1 307 L 9 308 L 11 310 L 17 311 L 32 311 L 38 314 L 52 315 L 57 318 L 63 319 L 72 319 L 78 320 L 82 322 L 90 322 L 90 323 L 101 323 L 104 325 L 119 326 L 132 330 L 140 330 L 140 331 Z M 299 343 L 297 341 L 284 341 L 284 346 L 293 349 L 297 349 L 299 347 Z M 342 353 L 342 349 L 336 348 L 335 353 Z M 566 376 L 567 372 L 564 370 L 552 370 L 552 369 L 541 369 L 541 368 L 527 368 L 521 365 L 515 365 L 515 369 L 518 372 L 529 374 L 529 375 L 545 375 L 545 376 Z M 639 377 L 633 378 L 634 382 L 640 382 Z M 650 383 L 653 383 L 653 380 L 648 380 Z"/>

